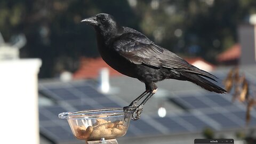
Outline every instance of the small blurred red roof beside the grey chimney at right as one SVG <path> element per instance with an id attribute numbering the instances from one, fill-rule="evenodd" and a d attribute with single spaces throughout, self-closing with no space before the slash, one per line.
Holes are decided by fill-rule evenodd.
<path id="1" fill-rule="evenodd" d="M 239 59 L 241 56 L 241 46 L 239 44 L 235 44 L 231 46 L 228 50 L 217 55 L 217 61 L 230 61 Z"/>

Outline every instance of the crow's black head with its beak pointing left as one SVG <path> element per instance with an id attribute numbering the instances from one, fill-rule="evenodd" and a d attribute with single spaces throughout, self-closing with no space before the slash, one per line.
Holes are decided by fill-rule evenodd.
<path id="1" fill-rule="evenodd" d="M 85 22 L 94 27 L 103 36 L 116 35 L 123 27 L 120 27 L 115 21 L 115 18 L 106 13 L 99 13 L 93 17 L 83 19 L 81 22 Z"/>

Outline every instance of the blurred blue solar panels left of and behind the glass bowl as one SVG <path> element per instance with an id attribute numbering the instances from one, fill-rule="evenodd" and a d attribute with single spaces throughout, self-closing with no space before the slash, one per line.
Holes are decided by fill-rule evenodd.
<path id="1" fill-rule="evenodd" d="M 121 107 L 117 102 L 99 93 L 90 82 L 39 84 L 39 93 L 52 99 L 54 106 L 39 107 L 40 133 L 55 143 L 78 141 L 58 114 L 93 108 Z"/>

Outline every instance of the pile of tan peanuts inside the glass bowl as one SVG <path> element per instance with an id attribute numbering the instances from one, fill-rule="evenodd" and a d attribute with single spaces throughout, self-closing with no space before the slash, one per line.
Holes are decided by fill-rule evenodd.
<path id="1" fill-rule="evenodd" d="M 100 138 L 113 139 L 125 134 L 126 127 L 123 121 L 106 121 L 105 119 L 96 119 L 92 126 L 78 126 L 76 128 L 76 137 L 82 140 L 99 140 Z"/>

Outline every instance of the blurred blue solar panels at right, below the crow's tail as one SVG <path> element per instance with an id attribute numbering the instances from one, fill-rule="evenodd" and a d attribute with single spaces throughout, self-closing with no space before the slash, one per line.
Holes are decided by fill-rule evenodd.
<path id="1" fill-rule="evenodd" d="M 163 120 L 166 118 L 157 119 L 161 123 L 165 123 L 165 121 L 172 122 L 174 125 L 178 123 L 181 125 L 179 127 L 182 127 L 180 130 L 184 130 L 184 132 L 201 131 L 204 127 L 224 130 L 239 129 L 245 126 L 246 108 L 241 103 L 232 103 L 229 94 L 177 95 L 170 100 L 188 110 L 188 113 L 166 117 L 168 120 Z M 252 115 L 250 126 L 256 126 L 254 111 Z"/>

